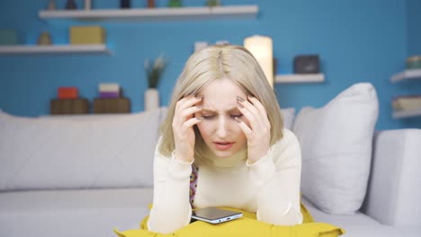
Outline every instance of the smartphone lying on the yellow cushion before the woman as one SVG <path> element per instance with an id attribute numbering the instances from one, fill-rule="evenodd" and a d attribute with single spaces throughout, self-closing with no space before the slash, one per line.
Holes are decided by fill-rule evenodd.
<path id="1" fill-rule="evenodd" d="M 243 216 L 241 212 L 228 211 L 217 207 L 202 208 L 194 210 L 192 213 L 192 219 L 211 224 L 228 222 L 241 216 Z"/>

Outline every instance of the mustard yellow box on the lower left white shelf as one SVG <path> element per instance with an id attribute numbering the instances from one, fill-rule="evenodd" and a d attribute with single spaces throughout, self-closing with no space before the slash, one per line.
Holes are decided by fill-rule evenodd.
<path id="1" fill-rule="evenodd" d="M 100 26 L 70 27 L 70 44 L 104 44 L 105 29 Z"/>

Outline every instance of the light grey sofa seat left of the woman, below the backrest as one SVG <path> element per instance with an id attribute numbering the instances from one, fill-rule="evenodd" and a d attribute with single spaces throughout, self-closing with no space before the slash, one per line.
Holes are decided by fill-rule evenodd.
<path id="1" fill-rule="evenodd" d="M 151 188 L 3 192 L 0 236 L 115 237 L 139 228 L 152 198 Z"/>

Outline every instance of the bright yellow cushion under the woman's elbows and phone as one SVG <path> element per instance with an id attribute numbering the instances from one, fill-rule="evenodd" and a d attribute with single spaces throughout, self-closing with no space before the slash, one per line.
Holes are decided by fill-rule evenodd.
<path id="1" fill-rule="evenodd" d="M 304 217 L 303 224 L 296 224 L 291 226 L 267 224 L 257 221 L 255 214 L 238 210 L 235 208 L 227 208 L 229 210 L 237 210 L 243 213 L 243 217 L 222 224 L 208 224 L 205 222 L 197 221 L 188 224 L 175 231 L 174 233 L 153 233 L 148 231 L 148 216 L 143 219 L 140 224 L 139 230 L 128 230 L 119 232 L 114 230 L 120 237 L 164 237 L 164 236 L 326 236 L 335 237 L 345 233 L 345 230 L 336 227 L 332 224 L 314 223 L 312 216 L 309 214 L 307 208 L 301 203 L 301 213 Z"/>

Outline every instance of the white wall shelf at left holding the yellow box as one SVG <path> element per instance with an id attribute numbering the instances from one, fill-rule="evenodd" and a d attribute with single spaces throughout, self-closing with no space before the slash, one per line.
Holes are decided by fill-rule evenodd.
<path id="1" fill-rule="evenodd" d="M 110 54 L 106 45 L 1 46 L 0 55 L 7 54 Z"/>

